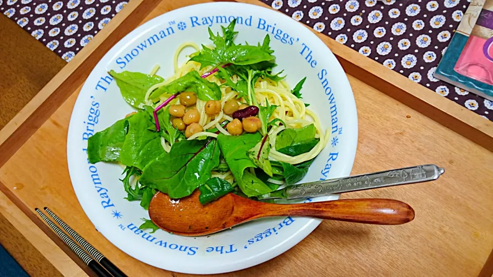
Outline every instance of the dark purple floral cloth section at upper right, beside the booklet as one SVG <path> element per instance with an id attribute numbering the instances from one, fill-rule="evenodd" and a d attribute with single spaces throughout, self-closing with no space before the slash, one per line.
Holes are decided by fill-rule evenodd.
<path id="1" fill-rule="evenodd" d="M 433 76 L 470 0 L 260 0 L 493 120 L 493 102 Z"/>

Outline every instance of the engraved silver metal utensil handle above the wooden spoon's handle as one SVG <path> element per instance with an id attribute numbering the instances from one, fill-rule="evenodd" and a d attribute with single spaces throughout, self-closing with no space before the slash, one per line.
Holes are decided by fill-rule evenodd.
<path id="1" fill-rule="evenodd" d="M 444 172 L 445 170 L 443 168 L 436 165 L 406 167 L 289 186 L 280 191 L 264 194 L 259 199 L 297 199 L 324 196 L 332 193 L 422 183 L 437 180 Z"/>

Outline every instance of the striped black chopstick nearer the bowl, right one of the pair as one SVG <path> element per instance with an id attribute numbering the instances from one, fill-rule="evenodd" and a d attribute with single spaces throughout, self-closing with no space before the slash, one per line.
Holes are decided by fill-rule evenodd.
<path id="1" fill-rule="evenodd" d="M 100 263 L 109 273 L 115 277 L 127 277 L 116 265 L 111 263 L 98 249 L 94 248 L 90 243 L 88 243 L 80 234 L 75 232 L 70 226 L 68 226 L 60 217 L 58 217 L 54 212 L 52 212 L 47 207 L 44 208 L 46 213 L 48 213 L 53 220 L 58 223 L 87 253 L 94 257 L 98 263 Z"/>

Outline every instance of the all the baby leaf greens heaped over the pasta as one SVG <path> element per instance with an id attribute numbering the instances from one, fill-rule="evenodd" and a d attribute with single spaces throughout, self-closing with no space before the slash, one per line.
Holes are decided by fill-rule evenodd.
<path id="1" fill-rule="evenodd" d="M 266 35 L 257 45 L 236 44 L 235 24 L 236 20 L 227 27 L 221 27 L 222 34 L 209 29 L 209 38 L 214 45 L 203 46 L 202 50 L 191 55 L 189 61 L 200 63 L 201 69 L 212 67 L 212 70 L 203 70 L 206 72 L 202 75 L 192 70 L 164 85 L 164 78 L 157 75 L 108 72 L 115 79 L 124 100 L 139 111 L 89 137 L 87 155 L 90 163 L 119 162 L 125 166 L 121 181 L 127 200 L 140 201 L 140 206 L 147 210 L 157 191 L 179 199 L 196 189 L 200 191 L 199 201 L 202 204 L 231 192 L 262 199 L 265 195 L 282 195 L 282 190 L 277 190 L 282 183 L 295 184 L 307 174 L 313 160 L 296 165 L 269 160 L 269 153 L 273 151 L 271 147 L 274 146 L 276 151 L 290 156 L 311 151 L 319 142 L 315 138 L 317 130 L 313 124 L 300 129 L 288 128 L 281 118 L 273 118 L 277 105 L 269 104 L 268 99 L 257 101 L 260 91 L 256 95 L 256 87 L 269 88 L 285 76 L 281 75 L 282 71 L 273 73 L 276 64 L 270 36 Z M 207 80 L 208 76 L 216 73 L 220 82 Z M 306 78 L 303 78 L 291 90 L 297 98 L 302 98 L 301 89 L 305 81 Z M 157 84 L 159 88 L 150 92 L 148 97 L 152 103 L 146 104 L 146 92 Z M 242 104 L 258 107 L 258 113 L 253 116 L 258 117 L 260 126 L 244 128 L 245 132 L 241 135 L 224 135 L 211 126 L 205 131 L 217 134 L 217 138 L 207 134 L 186 140 L 183 131 L 174 128 L 170 122 L 183 115 L 172 112 L 176 115 L 172 117 L 169 104 L 172 101 L 175 101 L 172 104 L 177 103 L 175 97 L 184 91 L 195 92 L 201 101 L 221 100 L 224 94 L 221 92 L 222 86 L 236 91 L 237 97 L 242 98 Z M 169 97 L 164 100 L 166 95 Z M 201 102 L 195 107 L 193 105 L 188 105 L 186 109 L 203 108 Z M 202 110 L 199 112 L 203 116 Z M 291 112 L 287 111 L 286 118 L 294 116 Z M 183 130 L 181 124 L 185 124 L 184 119 L 183 122 L 178 120 L 173 123 L 180 124 L 177 126 Z M 258 120 L 254 120 L 257 124 Z M 203 122 L 208 124 L 210 121 L 211 118 L 200 118 L 199 123 L 204 127 Z M 227 129 L 227 123 L 223 121 L 221 126 Z M 217 126 L 216 122 L 213 124 Z M 191 124 L 187 125 L 185 133 L 189 137 L 188 127 Z M 287 129 L 279 132 L 275 145 L 271 145 L 270 140 L 274 137 L 268 135 L 269 130 L 281 126 Z M 229 171 L 234 179 L 231 179 Z M 220 174 L 227 181 L 216 177 Z M 143 220 L 140 229 L 152 229 L 153 232 L 158 229 L 152 221 Z"/>

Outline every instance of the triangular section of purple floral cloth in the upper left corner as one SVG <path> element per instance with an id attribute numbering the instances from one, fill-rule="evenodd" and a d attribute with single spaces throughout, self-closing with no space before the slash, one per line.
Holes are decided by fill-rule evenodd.
<path id="1" fill-rule="evenodd" d="M 127 1 L 0 0 L 0 11 L 70 62 Z"/>

